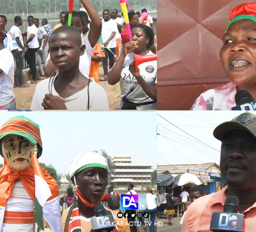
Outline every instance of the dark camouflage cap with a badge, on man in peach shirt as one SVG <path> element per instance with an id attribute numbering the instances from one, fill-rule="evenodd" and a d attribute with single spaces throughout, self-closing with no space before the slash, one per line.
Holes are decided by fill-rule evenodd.
<path id="1" fill-rule="evenodd" d="M 213 131 L 213 136 L 222 141 L 224 136 L 231 130 L 245 130 L 256 138 L 256 115 L 249 111 L 236 116 L 229 122 L 218 125 Z"/>

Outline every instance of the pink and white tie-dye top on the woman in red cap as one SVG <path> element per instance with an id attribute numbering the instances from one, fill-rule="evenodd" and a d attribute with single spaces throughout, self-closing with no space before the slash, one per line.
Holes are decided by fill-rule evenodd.
<path id="1" fill-rule="evenodd" d="M 236 85 L 228 82 L 202 93 L 192 105 L 191 110 L 230 110 L 236 106 Z"/>

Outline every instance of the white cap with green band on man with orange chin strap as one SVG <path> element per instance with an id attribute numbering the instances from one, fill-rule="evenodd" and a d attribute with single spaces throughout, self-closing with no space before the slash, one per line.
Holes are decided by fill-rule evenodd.
<path id="1" fill-rule="evenodd" d="M 81 171 L 89 167 L 101 167 L 110 172 L 108 168 L 108 161 L 104 156 L 94 151 L 84 151 L 71 161 L 70 178 L 72 178 L 78 170 Z"/>

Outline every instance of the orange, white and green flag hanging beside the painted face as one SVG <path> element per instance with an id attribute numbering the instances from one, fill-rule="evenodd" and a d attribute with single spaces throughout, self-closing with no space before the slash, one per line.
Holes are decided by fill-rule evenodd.
<path id="1" fill-rule="evenodd" d="M 32 165 L 35 173 L 35 222 L 44 230 L 43 207 L 52 195 L 49 185 L 44 179 L 44 174 L 37 159 L 37 151 L 32 156 Z"/>

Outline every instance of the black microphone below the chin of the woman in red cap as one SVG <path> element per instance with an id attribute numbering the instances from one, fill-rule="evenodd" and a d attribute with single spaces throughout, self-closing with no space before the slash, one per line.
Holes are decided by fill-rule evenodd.
<path id="1" fill-rule="evenodd" d="M 236 106 L 231 110 L 256 110 L 256 102 L 246 90 L 240 90 L 235 95 Z"/>

